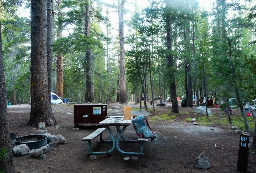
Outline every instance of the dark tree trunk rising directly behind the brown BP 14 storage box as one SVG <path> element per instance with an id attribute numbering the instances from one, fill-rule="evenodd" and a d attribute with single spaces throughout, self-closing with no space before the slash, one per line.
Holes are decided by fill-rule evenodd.
<path id="1" fill-rule="evenodd" d="M 84 16 L 84 27 L 85 36 L 90 37 L 90 0 L 85 0 L 85 16 Z M 94 103 L 94 95 L 92 89 L 92 79 L 91 79 L 91 50 L 87 47 L 85 51 L 85 72 L 86 72 L 86 91 L 84 102 Z"/>

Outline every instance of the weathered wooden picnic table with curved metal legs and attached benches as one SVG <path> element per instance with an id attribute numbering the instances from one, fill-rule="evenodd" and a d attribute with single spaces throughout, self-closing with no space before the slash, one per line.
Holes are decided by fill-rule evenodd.
<path id="1" fill-rule="evenodd" d="M 88 154 L 109 154 L 111 153 L 115 148 L 122 154 L 127 154 L 127 155 L 143 155 L 143 143 L 148 142 L 148 139 L 145 138 L 140 138 L 137 137 L 137 140 L 129 140 L 123 137 L 123 133 L 126 129 L 127 126 L 132 124 L 131 120 L 124 120 L 123 117 L 110 117 L 106 118 L 105 120 L 101 121 L 99 124 L 104 125 L 106 128 L 98 128 L 95 132 L 92 134 L 88 135 L 87 137 L 83 138 L 82 141 L 88 141 Z M 117 131 L 116 131 L 116 136 L 114 137 L 110 126 L 115 126 Z M 102 140 L 102 132 L 107 129 L 108 133 L 111 137 L 111 140 Z M 135 132 L 135 131 L 134 131 Z M 96 138 L 97 136 L 100 135 L 100 142 L 111 142 L 113 143 L 113 146 L 110 150 L 108 151 L 102 151 L 102 152 L 93 152 L 91 148 L 91 141 Z M 123 139 L 126 142 L 138 142 L 140 143 L 140 152 L 125 152 L 120 149 L 119 147 L 119 140 Z"/>

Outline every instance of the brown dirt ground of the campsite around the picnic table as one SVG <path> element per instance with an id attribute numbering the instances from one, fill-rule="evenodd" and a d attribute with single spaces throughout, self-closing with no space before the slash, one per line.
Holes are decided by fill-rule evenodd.
<path id="1" fill-rule="evenodd" d="M 128 105 L 139 108 L 135 103 Z M 149 103 L 148 103 L 149 105 Z M 121 108 L 114 108 L 120 106 Z M 127 104 L 111 103 L 108 109 L 123 110 Z M 26 125 L 29 121 L 30 105 L 7 106 L 9 128 L 11 133 L 19 133 L 19 136 L 33 134 L 38 128 Z M 150 107 L 150 106 L 149 106 Z M 170 107 L 156 107 L 156 112 L 147 119 L 153 131 L 158 135 L 155 143 L 144 143 L 144 156 L 138 156 L 138 160 L 124 160 L 124 155 L 114 150 L 110 155 L 97 155 L 97 159 L 91 160 L 88 152 L 88 142 L 81 139 L 101 127 L 80 127 L 78 131 L 74 127 L 74 105 L 53 105 L 53 114 L 61 128 L 46 127 L 49 133 L 61 134 L 68 144 L 62 144 L 48 151 L 47 158 L 31 158 L 29 156 L 14 156 L 16 172 L 236 172 L 239 133 L 231 130 L 231 126 L 215 124 L 212 127 L 193 125 L 185 122 L 186 117 L 195 117 L 192 108 L 180 107 L 179 116 L 174 121 L 151 121 L 150 117 L 171 111 Z M 210 108 L 212 113 L 220 114 L 219 108 Z M 113 111 L 108 111 L 112 113 Z M 214 130 L 213 130 L 214 129 Z M 114 131 L 114 128 L 112 129 Z M 114 133 L 113 133 L 114 134 Z M 128 126 L 124 132 L 128 139 L 135 139 L 136 134 L 132 126 Z M 174 138 L 177 137 L 177 139 Z M 98 137 L 99 138 L 99 137 Z M 110 143 L 99 143 L 96 138 L 92 142 L 93 150 L 109 150 Z M 103 139 L 110 139 L 107 131 L 103 132 Z M 214 145 L 218 143 L 218 148 Z M 252 141 L 251 141 L 252 143 Z M 139 144 L 127 143 L 120 140 L 120 148 L 125 151 L 138 152 Z M 209 158 L 209 169 L 198 169 L 195 160 L 204 153 Z M 256 154 L 250 152 L 248 172 L 256 172 Z"/>

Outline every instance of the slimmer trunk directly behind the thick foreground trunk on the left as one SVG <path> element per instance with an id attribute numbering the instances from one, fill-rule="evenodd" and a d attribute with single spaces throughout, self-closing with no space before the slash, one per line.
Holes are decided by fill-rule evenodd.
<path id="1" fill-rule="evenodd" d="M 53 0 L 47 0 L 47 75 L 48 75 L 48 97 L 49 97 L 49 115 L 52 117 L 51 109 L 51 75 L 52 75 L 52 56 L 53 56 Z"/>

